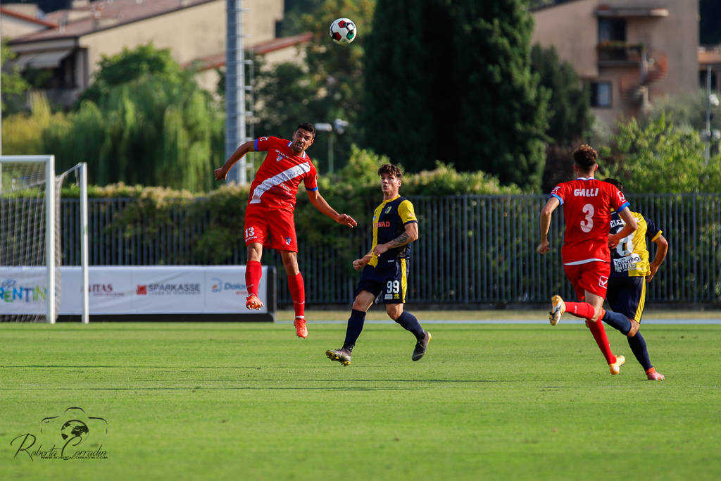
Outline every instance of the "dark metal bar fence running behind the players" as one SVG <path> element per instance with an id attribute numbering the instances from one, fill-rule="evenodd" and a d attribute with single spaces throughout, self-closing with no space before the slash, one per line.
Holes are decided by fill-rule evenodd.
<path id="1" fill-rule="evenodd" d="M 648 285 L 654 302 L 672 304 L 721 302 L 721 194 L 627 195 L 633 211 L 653 219 L 670 244 L 668 257 Z M 552 250 L 539 255 L 538 221 L 545 195 L 454 195 L 412 198 L 420 239 L 412 244 L 409 301 L 448 305 L 547 303 L 552 294 L 572 297 L 565 281 L 560 247 L 563 216 L 554 213 L 549 239 Z M 131 199 L 91 199 L 89 239 L 91 265 L 197 265 L 192 239 L 209 228 L 209 213 L 189 221 L 187 206 L 178 206 L 161 226 L 120 226 L 118 215 Z M 63 264 L 79 264 L 77 200 L 63 199 Z M 310 208 L 310 207 L 305 207 Z M 321 215 L 321 214 L 318 214 Z M 339 227 L 340 228 L 340 227 Z M 355 252 L 335 251 L 298 239 L 298 263 L 308 304 L 349 303 L 358 273 L 350 261 L 371 247 L 370 226 L 348 231 Z M 190 242 L 189 242 L 189 239 Z M 651 246 L 653 256 L 653 245 Z M 242 239 L 226 264 L 244 264 Z M 265 252 L 275 265 L 278 301 L 290 303 L 280 256 Z"/>

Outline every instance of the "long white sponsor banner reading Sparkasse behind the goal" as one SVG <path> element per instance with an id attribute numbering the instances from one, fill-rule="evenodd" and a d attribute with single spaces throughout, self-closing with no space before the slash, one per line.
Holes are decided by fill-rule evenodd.
<path id="1" fill-rule="evenodd" d="M 60 315 L 82 312 L 81 270 L 61 267 Z M 245 307 L 245 266 L 91 266 L 90 314 L 264 314 Z M 267 267 L 258 295 L 267 299 Z M 43 314 L 45 268 L 0 266 L 0 314 Z"/>

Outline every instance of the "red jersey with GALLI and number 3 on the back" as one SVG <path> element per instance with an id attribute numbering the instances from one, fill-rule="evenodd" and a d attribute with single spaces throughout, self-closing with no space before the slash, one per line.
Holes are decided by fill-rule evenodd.
<path id="1" fill-rule="evenodd" d="M 611 211 L 620 212 L 629 206 L 623 193 L 608 182 L 578 177 L 560 183 L 551 195 L 561 201 L 566 221 L 561 249 L 563 263 L 611 262 Z"/>

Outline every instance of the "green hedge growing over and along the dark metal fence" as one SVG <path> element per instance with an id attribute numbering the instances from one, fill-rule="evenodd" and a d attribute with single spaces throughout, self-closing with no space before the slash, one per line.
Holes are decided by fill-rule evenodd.
<path id="1" fill-rule="evenodd" d="M 296 207 L 296 229 L 298 237 L 317 246 L 332 247 L 347 254 L 358 246 L 355 236 L 365 232 L 370 225 L 373 208 L 381 202 L 377 170 L 387 159 L 369 151 L 353 147 L 348 165 L 332 177 L 319 178 L 319 191 L 336 211 L 353 216 L 361 229 L 349 235 L 349 229 L 340 226 L 309 205 L 303 188 L 298 191 Z M 212 172 L 206 172 L 212 175 Z M 193 252 L 187 253 L 189 263 L 227 262 L 237 246 L 243 244 L 244 211 L 247 206 L 249 186 L 226 185 L 208 194 L 190 193 L 188 190 L 173 190 L 165 187 L 128 186 L 123 183 L 106 187 L 91 187 L 92 198 L 126 198 L 131 201 L 115 213 L 107 231 L 121 231 L 126 239 L 141 239 L 140 242 L 154 242 L 161 226 L 173 226 L 175 235 L 184 236 L 186 244 L 193 245 Z M 412 199 L 413 195 L 452 194 L 515 194 L 521 190 L 512 185 L 500 186 L 497 179 L 483 172 L 456 172 L 448 165 L 438 163 L 432 171 L 420 172 L 403 177 L 401 194 Z M 75 197 L 77 187 L 63 190 L 66 197 Z M 178 206 L 185 211 L 180 221 L 173 213 Z M 203 225 L 203 229 L 186 229 L 188 226 Z M 174 223 L 180 224 L 176 225 Z M 190 237 L 190 239 L 188 239 Z M 366 243 L 370 242 L 366 239 Z M 366 248 L 370 247 L 370 244 Z M 156 260 L 158 263 L 178 260 Z"/>

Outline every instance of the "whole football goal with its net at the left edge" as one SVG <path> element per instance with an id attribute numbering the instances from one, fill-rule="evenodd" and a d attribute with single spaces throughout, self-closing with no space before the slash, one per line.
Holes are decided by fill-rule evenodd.
<path id="1" fill-rule="evenodd" d="M 53 156 L 0 156 L 0 321 L 56 322 L 62 299 L 61 185 L 76 171 L 81 187 L 82 296 L 87 316 L 87 173 L 55 175 Z M 83 200 L 85 200 L 83 202 Z"/>

